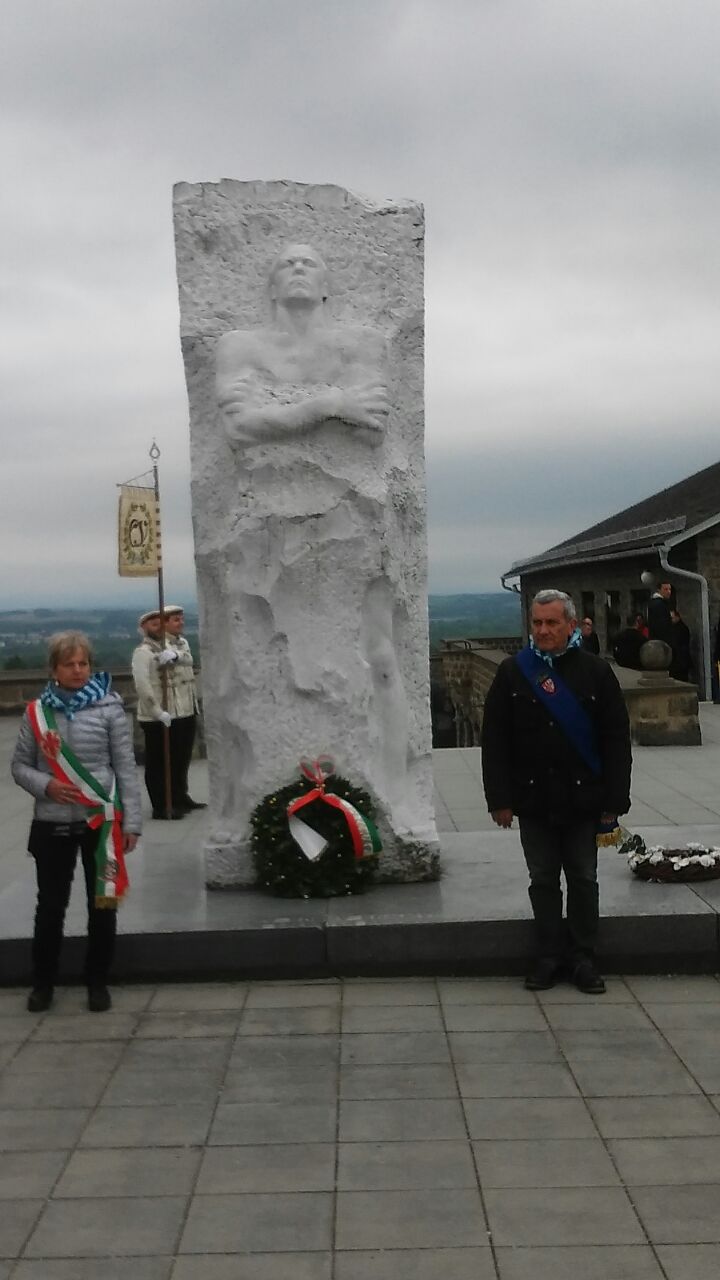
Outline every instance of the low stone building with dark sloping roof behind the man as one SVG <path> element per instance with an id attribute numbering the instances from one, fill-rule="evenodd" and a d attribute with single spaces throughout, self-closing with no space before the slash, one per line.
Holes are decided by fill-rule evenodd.
<path id="1" fill-rule="evenodd" d="M 644 575 L 644 579 L 641 577 Z M 652 581 L 671 582 L 675 607 L 691 628 L 700 698 L 711 698 L 720 616 L 720 462 L 600 521 L 502 575 L 523 598 L 523 631 L 536 591 L 559 588 L 589 616 L 602 653 L 628 618 L 644 612 Z"/>

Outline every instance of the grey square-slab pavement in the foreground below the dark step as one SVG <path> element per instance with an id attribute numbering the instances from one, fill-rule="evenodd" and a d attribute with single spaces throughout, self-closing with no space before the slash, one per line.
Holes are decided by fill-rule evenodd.
<path id="1" fill-rule="evenodd" d="M 720 983 L 0 992 L 0 1276 L 707 1280 Z"/>

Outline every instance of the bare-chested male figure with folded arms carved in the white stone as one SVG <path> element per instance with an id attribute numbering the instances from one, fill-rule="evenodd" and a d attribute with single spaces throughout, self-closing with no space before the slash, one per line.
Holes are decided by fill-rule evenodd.
<path id="1" fill-rule="evenodd" d="M 247 476 L 234 591 L 272 600 L 293 691 L 357 704 L 359 668 L 369 673 L 378 774 L 407 829 L 407 699 L 378 516 L 387 488 L 369 453 L 389 412 L 387 343 L 377 329 L 328 323 L 328 271 L 309 244 L 278 253 L 269 296 L 270 325 L 225 333 L 217 347 L 218 404 Z"/>

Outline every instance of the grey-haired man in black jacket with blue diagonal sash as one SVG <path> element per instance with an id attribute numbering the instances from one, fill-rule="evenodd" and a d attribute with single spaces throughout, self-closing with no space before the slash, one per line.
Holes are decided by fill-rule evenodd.
<path id="1" fill-rule="evenodd" d="M 569 595 L 538 591 L 530 626 L 486 699 L 484 791 L 498 827 L 514 815 L 520 824 L 537 933 L 525 986 L 546 991 L 569 977 L 600 995 L 597 836 L 630 808 L 628 712 L 609 663 L 582 648 Z"/>

